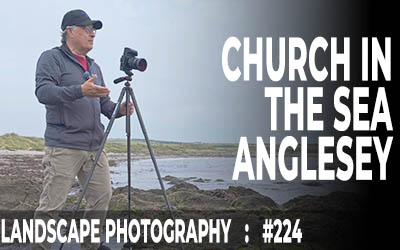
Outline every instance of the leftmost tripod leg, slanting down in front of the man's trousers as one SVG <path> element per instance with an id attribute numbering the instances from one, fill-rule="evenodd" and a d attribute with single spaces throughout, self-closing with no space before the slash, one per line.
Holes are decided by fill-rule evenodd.
<path id="1" fill-rule="evenodd" d="M 115 117 L 117 116 L 117 112 L 118 112 L 119 107 L 120 107 L 120 105 L 121 105 L 121 103 L 122 103 L 122 98 L 124 97 L 126 91 L 127 91 L 127 90 L 126 90 L 125 88 L 123 88 L 123 89 L 121 90 L 121 94 L 119 95 L 117 104 L 115 105 L 115 109 L 114 109 L 114 112 L 113 112 L 113 114 L 112 114 L 112 116 L 111 116 L 111 118 L 110 118 L 110 122 L 109 122 L 108 125 L 107 125 L 107 129 L 106 129 L 106 131 L 105 131 L 105 133 L 104 133 L 104 137 L 103 137 L 103 140 L 102 140 L 102 142 L 101 142 L 101 144 L 100 144 L 100 148 L 99 148 L 99 150 L 98 150 L 97 153 L 96 153 L 96 157 L 95 157 L 95 160 L 94 160 L 94 162 L 93 162 L 93 166 L 92 166 L 92 168 L 91 168 L 90 171 L 89 171 L 89 175 L 88 175 L 88 177 L 87 177 L 87 179 L 86 179 L 85 185 L 84 185 L 83 188 L 82 188 L 81 195 L 79 196 L 79 200 L 78 200 L 78 202 L 77 202 L 77 204 L 76 204 L 76 206 L 75 206 L 75 209 L 74 209 L 74 211 L 73 211 L 72 218 L 75 218 L 75 217 L 76 217 L 76 214 L 77 214 L 77 212 L 78 212 L 78 210 L 79 210 L 79 208 L 80 208 L 80 206 L 81 206 L 83 197 L 84 197 L 84 195 L 85 195 L 85 193 L 86 193 L 86 191 L 87 191 L 87 189 L 88 189 L 88 186 L 89 186 L 89 183 L 90 183 L 90 179 L 91 179 L 92 176 L 93 176 L 93 173 L 94 173 L 94 170 L 95 170 L 95 168 L 96 168 L 97 162 L 99 161 L 101 152 L 103 152 L 104 145 L 105 145 L 105 143 L 106 143 L 106 141 L 107 141 L 108 134 L 110 133 L 111 127 L 112 127 L 112 125 L 114 124 Z M 69 232 L 69 228 L 70 228 L 70 224 L 68 224 L 67 229 L 66 229 L 67 235 L 68 235 L 68 232 Z M 61 250 L 63 247 L 64 247 L 64 243 L 61 243 L 59 250 Z"/>

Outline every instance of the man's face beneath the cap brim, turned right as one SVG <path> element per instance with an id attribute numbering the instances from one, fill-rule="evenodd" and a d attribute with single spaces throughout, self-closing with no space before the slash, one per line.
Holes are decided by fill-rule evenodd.
<path id="1" fill-rule="evenodd" d="M 96 31 L 93 26 L 76 26 L 70 30 L 70 42 L 78 50 L 88 53 L 93 49 L 93 41 L 96 36 Z"/>

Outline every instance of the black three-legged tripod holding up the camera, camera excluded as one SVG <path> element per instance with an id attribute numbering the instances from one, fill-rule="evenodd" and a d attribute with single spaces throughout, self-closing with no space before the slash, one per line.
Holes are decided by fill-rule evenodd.
<path id="1" fill-rule="evenodd" d="M 158 169 L 157 161 L 156 161 L 156 158 L 154 157 L 153 148 L 151 147 L 149 137 L 147 136 L 147 131 L 146 131 L 146 128 L 144 126 L 142 115 L 140 114 L 139 106 L 137 104 L 135 95 L 133 93 L 133 89 L 131 88 L 130 81 L 132 81 L 133 73 L 129 72 L 129 71 L 125 71 L 125 73 L 127 74 L 127 76 L 120 77 L 120 78 L 114 80 L 114 83 L 120 83 L 122 81 L 125 81 L 125 87 L 121 90 L 121 94 L 119 95 L 119 98 L 118 98 L 117 104 L 115 106 L 115 109 L 113 111 L 113 114 L 111 116 L 110 122 L 108 123 L 107 129 L 106 129 L 106 131 L 104 133 L 103 141 L 101 142 L 100 148 L 96 153 L 96 157 L 95 157 L 95 160 L 93 162 L 93 166 L 90 169 L 89 175 L 88 175 L 88 177 L 86 179 L 85 185 L 83 186 L 83 189 L 82 189 L 81 195 L 79 197 L 78 203 L 76 204 L 76 207 L 74 209 L 73 218 L 76 218 L 77 212 L 78 212 L 78 210 L 80 208 L 80 205 L 82 203 L 82 200 L 83 200 L 83 196 L 85 195 L 85 193 L 87 191 L 90 179 L 93 176 L 93 173 L 94 173 L 94 170 L 96 168 L 97 162 L 98 162 L 98 160 L 100 158 L 100 155 L 101 155 L 101 153 L 102 153 L 102 151 L 104 149 L 104 145 L 105 145 L 107 137 L 108 137 L 108 135 L 109 135 L 109 133 L 111 131 L 112 125 L 114 124 L 114 120 L 115 120 L 115 117 L 117 116 L 117 113 L 119 111 L 119 107 L 121 106 L 122 99 L 125 96 L 125 98 L 126 98 L 126 115 L 125 115 L 125 117 L 126 117 L 126 139 L 127 139 L 127 156 L 128 156 L 128 159 L 127 159 L 128 160 L 128 222 L 131 220 L 131 118 L 130 118 L 130 114 L 129 114 L 129 102 L 130 102 L 130 99 L 132 99 L 132 102 L 133 102 L 133 105 L 134 105 L 134 109 L 136 111 L 136 114 L 137 114 L 137 117 L 138 117 L 138 120 L 139 120 L 139 123 L 140 123 L 140 127 L 142 128 L 142 132 L 143 132 L 144 138 L 146 140 L 147 148 L 149 150 L 149 153 L 150 153 L 150 156 L 151 156 L 151 160 L 153 161 L 153 165 L 154 165 L 154 168 L 155 168 L 156 173 L 157 173 L 158 181 L 160 182 L 160 186 L 161 186 L 161 189 L 162 189 L 162 192 L 163 192 L 163 196 L 164 196 L 165 202 L 167 203 L 167 206 L 168 206 L 169 214 L 171 216 L 171 219 L 174 220 L 174 215 L 172 213 L 172 208 L 171 208 L 171 205 L 170 205 L 169 200 L 168 200 L 167 192 L 165 191 L 164 183 L 162 181 L 161 174 L 160 174 L 160 171 Z M 67 227 L 67 233 L 68 233 L 68 231 L 69 231 L 69 226 Z M 64 243 L 62 243 L 60 245 L 59 250 L 61 250 L 63 248 L 63 246 L 64 246 Z M 104 246 L 101 246 L 101 247 L 103 247 L 104 249 L 107 249 Z M 131 242 L 125 243 L 124 244 L 124 248 L 132 250 L 133 249 L 133 243 L 131 243 Z M 183 250 L 183 245 L 182 244 L 181 244 L 181 249 Z"/>

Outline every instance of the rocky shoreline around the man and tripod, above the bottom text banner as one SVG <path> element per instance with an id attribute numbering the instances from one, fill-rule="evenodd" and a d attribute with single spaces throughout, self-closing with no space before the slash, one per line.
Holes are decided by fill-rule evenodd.
<path id="1" fill-rule="evenodd" d="M 126 154 L 124 153 L 108 153 L 110 166 L 115 166 L 120 161 L 125 161 Z M 196 155 L 198 157 L 199 155 Z M 31 150 L 5 150 L 0 149 L 0 210 L 32 210 L 37 206 L 37 201 L 41 192 L 43 166 L 41 164 L 43 152 Z M 174 157 L 193 157 L 182 155 L 164 155 L 158 156 L 163 158 Z M 147 158 L 143 155 L 132 155 L 133 160 Z M 194 177 L 193 177 L 194 178 Z M 171 203 L 179 208 L 190 209 L 191 206 L 196 209 L 246 209 L 246 208 L 287 208 L 298 207 L 299 201 L 306 200 L 308 203 L 310 199 L 318 200 L 325 199 L 328 196 L 301 196 L 294 198 L 289 202 L 282 205 L 276 204 L 272 199 L 263 196 L 251 189 L 244 187 L 229 187 L 228 189 L 216 190 L 200 190 L 193 184 L 188 183 L 189 179 L 180 179 L 174 176 L 165 176 L 164 181 L 173 186 L 168 189 Z M 190 179 L 191 180 L 191 179 Z M 198 179 L 199 182 L 207 181 Z M 126 197 L 127 187 L 116 188 L 113 190 L 113 198 L 111 201 L 111 208 L 121 208 L 121 203 L 125 203 L 123 197 Z M 335 192 L 336 196 L 358 196 L 353 193 Z M 66 208 L 72 206 L 71 202 L 77 199 L 79 194 L 71 195 L 67 201 Z M 311 198 L 312 197 L 312 198 Z M 337 197 L 338 198 L 338 197 Z M 354 197 L 353 197 L 354 198 Z M 141 190 L 132 188 L 132 199 L 135 209 L 157 209 L 162 208 L 164 201 L 160 190 Z M 305 202 L 305 203 L 307 203 Z M 297 205 L 293 205 L 296 203 Z M 301 203 L 301 202 L 300 202 Z M 308 204 L 307 203 L 307 204 Z M 312 202 L 311 202 L 312 204 Z M 354 204 L 341 204 L 342 208 L 357 209 L 359 207 Z M 329 208 L 339 208 L 338 204 Z M 326 203 L 328 205 L 328 203 Z M 311 205 L 304 204 L 303 207 L 310 207 Z"/>

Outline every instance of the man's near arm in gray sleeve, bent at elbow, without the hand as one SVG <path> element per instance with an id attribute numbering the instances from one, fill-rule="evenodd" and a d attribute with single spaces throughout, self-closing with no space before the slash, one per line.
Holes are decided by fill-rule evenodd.
<path id="1" fill-rule="evenodd" d="M 35 94 L 40 103 L 58 104 L 82 98 L 80 85 L 58 86 L 61 80 L 59 62 L 51 51 L 45 51 L 40 56 L 36 66 Z"/>

